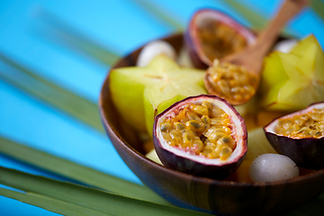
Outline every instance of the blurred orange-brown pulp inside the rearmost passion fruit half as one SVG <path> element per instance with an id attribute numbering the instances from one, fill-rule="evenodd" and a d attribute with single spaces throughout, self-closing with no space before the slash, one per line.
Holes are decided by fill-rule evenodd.
<path id="1" fill-rule="evenodd" d="M 197 28 L 198 40 L 207 58 L 223 58 L 247 46 L 247 40 L 236 30 L 220 22 L 206 22 Z"/>

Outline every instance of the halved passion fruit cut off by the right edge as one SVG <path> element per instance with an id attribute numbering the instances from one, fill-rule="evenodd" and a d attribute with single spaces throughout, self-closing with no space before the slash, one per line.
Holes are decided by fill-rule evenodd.
<path id="1" fill-rule="evenodd" d="M 279 154 L 291 157 L 304 168 L 324 168 L 324 103 L 284 115 L 264 130 Z"/>

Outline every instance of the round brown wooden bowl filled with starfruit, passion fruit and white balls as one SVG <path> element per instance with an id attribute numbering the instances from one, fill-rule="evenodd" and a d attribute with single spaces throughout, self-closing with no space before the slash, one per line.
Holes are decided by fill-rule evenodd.
<path id="1" fill-rule="evenodd" d="M 229 43 L 247 46 L 236 29 L 241 25 L 217 17 L 211 28 L 220 25 L 217 35 L 239 34 Z M 192 58 L 199 57 L 190 54 L 185 37 L 135 50 L 103 83 L 104 128 L 135 175 L 177 206 L 218 215 L 283 213 L 322 193 L 324 106 L 306 108 L 324 101 L 324 56 L 315 37 L 299 40 L 289 53 L 267 54 L 257 94 L 241 105 L 208 94 L 208 69 L 194 67 Z M 230 93 L 247 93 L 244 84 L 233 90 L 234 76 L 223 76 Z M 157 162 L 150 159 L 156 153 Z"/>

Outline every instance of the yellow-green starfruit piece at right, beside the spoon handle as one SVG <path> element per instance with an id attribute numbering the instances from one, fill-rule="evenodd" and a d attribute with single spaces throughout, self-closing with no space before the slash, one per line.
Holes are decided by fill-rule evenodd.
<path id="1" fill-rule="evenodd" d="M 289 53 L 274 51 L 264 61 L 261 105 L 272 111 L 300 110 L 324 100 L 324 54 L 314 35 Z"/>

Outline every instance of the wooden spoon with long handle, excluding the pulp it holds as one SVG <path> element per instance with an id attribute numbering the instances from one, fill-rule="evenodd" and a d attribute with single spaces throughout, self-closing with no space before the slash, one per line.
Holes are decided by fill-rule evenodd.
<path id="1" fill-rule="evenodd" d="M 273 47 L 275 40 L 281 29 L 284 27 L 295 14 L 302 11 L 302 8 L 308 4 L 308 0 L 286 0 L 281 6 L 275 18 L 268 24 L 266 30 L 262 31 L 258 37 L 257 41 L 243 49 L 238 53 L 231 54 L 225 58 L 221 58 L 220 62 L 228 62 L 229 64 L 245 67 L 251 75 L 256 77 L 257 85 L 255 86 L 257 92 L 257 86 L 260 80 L 260 72 L 263 65 L 263 59 L 269 50 Z M 216 94 L 214 89 L 211 87 L 211 79 L 208 78 L 209 73 L 207 70 L 204 82 L 210 92 L 210 94 Z M 233 99 L 225 98 L 233 105 L 238 105 L 241 103 L 246 103 L 254 94 L 252 94 L 247 100 L 244 101 L 233 101 Z"/>

